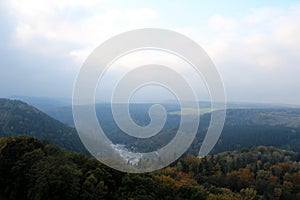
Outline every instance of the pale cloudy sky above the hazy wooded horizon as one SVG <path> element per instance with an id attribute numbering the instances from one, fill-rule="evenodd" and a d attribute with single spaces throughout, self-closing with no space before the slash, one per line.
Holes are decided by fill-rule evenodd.
<path id="1" fill-rule="evenodd" d="M 188 36 L 207 52 L 228 101 L 300 104 L 299 19 L 296 0 L 1 0 L 0 97 L 70 98 L 81 65 L 97 46 L 132 29 L 163 28 Z M 99 93 L 109 94 L 126 66 L 147 59 L 183 66 L 171 57 L 124 58 Z M 151 92 L 169 98 L 159 89 L 146 91 L 138 98 L 151 98 Z"/>

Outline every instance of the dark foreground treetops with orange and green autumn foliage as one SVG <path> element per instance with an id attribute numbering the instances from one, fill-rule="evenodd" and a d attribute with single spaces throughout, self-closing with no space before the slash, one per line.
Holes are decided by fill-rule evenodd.
<path id="1" fill-rule="evenodd" d="M 0 197 L 7 199 L 300 199 L 299 154 L 274 147 L 183 157 L 147 174 L 27 136 L 0 139 Z"/>

